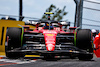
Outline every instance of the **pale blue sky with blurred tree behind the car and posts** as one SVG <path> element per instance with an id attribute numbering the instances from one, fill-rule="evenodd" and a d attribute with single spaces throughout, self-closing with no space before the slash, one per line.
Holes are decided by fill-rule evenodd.
<path id="1" fill-rule="evenodd" d="M 19 20 L 20 0 L 0 0 L 0 18 Z M 51 11 L 53 20 L 69 21 L 74 26 L 76 4 L 74 0 L 22 0 L 23 21 L 45 19 L 44 12 Z M 100 0 L 83 1 L 82 28 L 100 30 Z"/>

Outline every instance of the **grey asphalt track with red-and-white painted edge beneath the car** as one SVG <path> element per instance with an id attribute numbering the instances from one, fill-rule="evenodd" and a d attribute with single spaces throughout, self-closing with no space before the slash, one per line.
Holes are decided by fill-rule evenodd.
<path id="1" fill-rule="evenodd" d="M 76 59 L 61 60 L 26 60 L 26 59 L 0 59 L 0 67 L 100 67 L 100 58 L 94 57 L 91 61 Z"/>

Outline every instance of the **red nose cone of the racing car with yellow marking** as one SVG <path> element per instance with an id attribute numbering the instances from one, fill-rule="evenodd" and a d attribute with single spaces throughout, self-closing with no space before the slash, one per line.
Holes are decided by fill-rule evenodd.
<path id="1" fill-rule="evenodd" d="M 43 34 L 44 34 L 46 49 L 48 51 L 54 51 L 57 32 L 53 30 L 49 30 L 49 31 L 44 31 Z"/>

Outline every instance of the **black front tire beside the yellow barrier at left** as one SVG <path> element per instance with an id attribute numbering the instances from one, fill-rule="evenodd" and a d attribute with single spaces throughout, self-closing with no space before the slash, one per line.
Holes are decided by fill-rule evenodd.
<path id="1" fill-rule="evenodd" d="M 8 37 L 8 49 L 12 50 L 14 48 L 21 47 L 21 29 L 12 27 L 7 30 Z"/>

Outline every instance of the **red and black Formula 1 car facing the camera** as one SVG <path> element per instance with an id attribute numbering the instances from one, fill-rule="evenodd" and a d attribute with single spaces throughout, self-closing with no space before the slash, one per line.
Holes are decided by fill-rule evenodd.
<path id="1" fill-rule="evenodd" d="M 25 55 L 40 55 L 47 58 L 55 56 L 78 57 L 79 60 L 93 58 L 92 34 L 90 29 L 79 29 L 62 21 L 30 21 L 34 30 L 8 28 L 6 56 L 24 57 Z"/>

